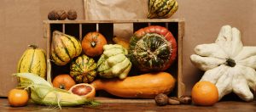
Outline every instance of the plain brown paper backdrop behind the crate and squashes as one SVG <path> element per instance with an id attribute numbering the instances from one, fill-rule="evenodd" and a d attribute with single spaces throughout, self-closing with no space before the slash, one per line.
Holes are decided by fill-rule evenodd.
<path id="1" fill-rule="evenodd" d="M 144 1 L 144 0 L 143 0 Z M 16 86 L 11 76 L 28 44 L 46 48 L 43 20 L 52 9 L 77 10 L 78 20 L 84 20 L 84 0 L 1 0 L 0 1 L 0 97 Z M 110 1 L 109 1 L 110 2 Z M 130 2 L 130 1 L 129 1 Z M 222 25 L 236 26 L 244 45 L 256 45 L 256 0 L 177 0 L 179 8 L 172 18 L 185 20 L 183 37 L 183 79 L 186 94 L 201 77 L 189 60 L 195 45 L 213 42 Z M 107 3 L 108 4 L 108 3 Z M 137 7 L 140 3 L 128 3 Z M 133 10 L 142 11 L 142 10 Z M 142 19 L 145 16 L 137 17 Z M 117 17 L 118 20 L 118 17 Z M 192 78 L 191 78 L 192 77 Z"/>

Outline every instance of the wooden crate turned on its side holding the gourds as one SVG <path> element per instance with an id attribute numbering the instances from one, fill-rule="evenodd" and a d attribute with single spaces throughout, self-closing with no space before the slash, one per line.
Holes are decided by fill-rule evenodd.
<path id="1" fill-rule="evenodd" d="M 62 31 L 67 35 L 75 36 L 80 41 L 86 33 L 90 31 L 99 31 L 112 43 L 113 25 L 129 24 L 132 31 L 137 31 L 140 28 L 148 25 L 161 25 L 172 32 L 172 35 L 177 40 L 177 59 L 174 64 L 167 70 L 172 76 L 177 79 L 176 87 L 170 96 L 182 96 L 184 93 L 184 85 L 182 81 L 182 45 L 184 33 L 184 21 L 178 19 L 170 20 L 45 20 L 44 21 L 44 38 L 47 39 L 47 59 L 50 59 L 50 44 L 53 31 Z M 132 35 L 132 34 L 131 34 Z M 69 74 L 69 65 L 58 66 L 51 63 L 51 72 L 49 73 L 53 79 L 56 75 L 67 73 Z M 108 92 L 100 91 L 96 94 L 96 99 L 101 102 L 108 103 L 154 103 L 153 99 L 127 99 L 117 98 L 108 94 Z"/>

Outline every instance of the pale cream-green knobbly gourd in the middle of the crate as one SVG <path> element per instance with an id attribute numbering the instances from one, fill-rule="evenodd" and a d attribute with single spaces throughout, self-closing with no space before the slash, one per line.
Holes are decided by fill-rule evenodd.
<path id="1" fill-rule="evenodd" d="M 128 51 L 118 44 L 104 45 L 103 49 L 104 52 L 97 62 L 99 76 L 125 79 L 131 70 L 131 61 L 126 57 Z"/>

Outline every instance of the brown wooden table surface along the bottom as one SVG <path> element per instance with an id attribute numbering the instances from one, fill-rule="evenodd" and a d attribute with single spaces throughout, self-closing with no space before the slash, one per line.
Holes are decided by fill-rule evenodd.
<path id="1" fill-rule="evenodd" d="M 10 107 L 7 98 L 0 98 L 0 111 L 1 112 L 13 112 L 13 111 L 60 111 L 55 107 L 40 106 L 35 104 L 28 104 L 25 107 Z M 167 106 L 156 106 L 154 103 L 102 103 L 100 106 L 91 108 L 86 106 L 80 107 L 62 107 L 61 111 L 68 112 L 79 112 L 79 111 L 146 111 L 146 112 L 156 112 L 156 111 L 175 111 L 175 112 L 256 112 L 256 101 L 245 103 L 241 101 L 221 101 L 217 104 L 209 107 L 201 107 L 195 105 L 167 105 Z"/>

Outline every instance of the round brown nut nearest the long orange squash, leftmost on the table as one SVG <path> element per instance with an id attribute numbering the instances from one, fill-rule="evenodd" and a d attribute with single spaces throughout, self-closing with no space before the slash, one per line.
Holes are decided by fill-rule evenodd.
<path id="1" fill-rule="evenodd" d="M 168 104 L 169 98 L 166 94 L 160 93 L 155 96 L 154 101 L 159 106 L 165 106 Z"/>

